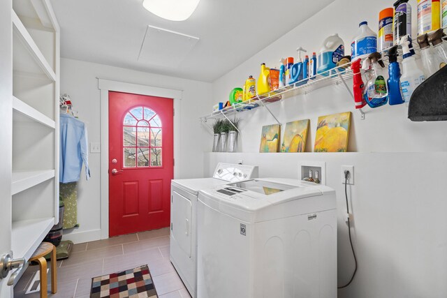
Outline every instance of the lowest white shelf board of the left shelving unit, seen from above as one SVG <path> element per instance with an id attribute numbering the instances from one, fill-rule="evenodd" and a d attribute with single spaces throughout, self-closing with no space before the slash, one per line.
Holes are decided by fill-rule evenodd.
<path id="1" fill-rule="evenodd" d="M 54 217 L 13 221 L 11 248 L 14 258 L 29 260 L 54 225 Z"/>

